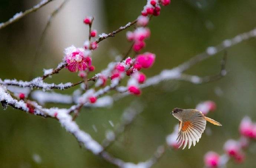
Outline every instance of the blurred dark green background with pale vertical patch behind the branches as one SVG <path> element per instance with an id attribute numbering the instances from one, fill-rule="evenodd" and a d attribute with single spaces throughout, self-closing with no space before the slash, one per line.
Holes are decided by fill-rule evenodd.
<path id="1" fill-rule="evenodd" d="M 1 0 L 0 22 L 15 13 L 29 9 L 39 0 Z M 0 30 L 0 78 L 29 80 L 42 75 L 43 68 L 54 68 L 62 61 L 63 49 L 74 44 L 82 46 L 88 36 L 83 17 L 95 16 L 98 32 L 110 32 L 132 21 L 140 14 L 145 0 L 70 0 L 52 20 L 36 63 L 34 55 L 40 34 L 49 13 L 61 0 L 55 0 L 36 13 Z M 173 0 L 152 18 L 151 37 L 144 51 L 157 55 L 155 64 L 143 71 L 147 76 L 172 68 L 201 53 L 208 46 L 249 31 L 256 26 L 255 0 Z M 132 28 L 130 28 L 132 29 Z M 118 54 L 129 48 L 125 31 L 108 38 L 93 51 L 96 72 L 106 67 Z M 109 108 L 83 109 L 77 118 L 79 126 L 101 142 L 105 131 L 113 130 L 123 110 L 132 101 L 144 105 L 143 112 L 108 151 L 124 161 L 140 162 L 150 158 L 173 132 L 177 120 L 170 115 L 174 107 L 194 108 L 204 100 L 213 100 L 217 110 L 208 116 L 223 127 L 208 124 L 212 134 L 204 133 L 196 147 L 168 150 L 154 167 L 203 167 L 203 155 L 214 150 L 223 154 L 223 144 L 229 138 L 239 138 L 238 126 L 245 115 L 256 121 L 256 39 L 244 41 L 227 50 L 226 77 L 207 84 L 194 85 L 183 81 L 165 81 L 142 90 L 140 97 L 128 96 Z M 216 74 L 220 70 L 223 52 L 190 68 L 188 74 Z M 35 65 L 35 69 L 33 69 Z M 78 81 L 76 73 L 62 70 L 47 82 Z M 71 94 L 73 89 L 62 91 Z M 56 91 L 59 92 L 59 91 Z M 46 107 L 68 105 L 46 104 Z M 94 125 L 94 126 L 93 126 Z M 93 129 L 97 128 L 97 132 Z M 230 161 L 227 167 L 255 167 L 256 145 L 246 152 L 242 165 Z M 81 149 L 75 138 L 58 122 L 28 115 L 8 107 L 0 110 L 0 167 L 114 167 L 91 152 Z"/>

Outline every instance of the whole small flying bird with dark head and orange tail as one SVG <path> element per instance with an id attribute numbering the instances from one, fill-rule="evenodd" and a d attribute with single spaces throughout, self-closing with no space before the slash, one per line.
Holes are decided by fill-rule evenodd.
<path id="1" fill-rule="evenodd" d="M 180 144 L 178 148 L 184 144 L 182 149 L 186 148 L 187 144 L 189 149 L 192 143 L 194 146 L 196 142 L 198 143 L 205 130 L 206 121 L 214 125 L 222 126 L 218 121 L 204 116 L 201 111 L 196 109 L 174 108 L 171 114 L 179 120 L 178 137 L 176 141 L 177 144 Z"/>

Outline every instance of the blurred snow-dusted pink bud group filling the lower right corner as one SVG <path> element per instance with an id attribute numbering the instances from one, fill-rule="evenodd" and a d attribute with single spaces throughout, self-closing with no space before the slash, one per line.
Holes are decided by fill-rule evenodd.
<path id="1" fill-rule="evenodd" d="M 239 140 L 227 140 L 223 146 L 225 155 L 229 156 L 237 164 L 242 163 L 245 159 L 243 149 L 249 146 L 250 140 L 255 140 L 256 138 L 256 124 L 249 117 L 244 117 L 240 123 L 239 131 L 242 135 Z M 206 167 L 222 167 L 227 162 L 227 159 L 225 161 L 225 155 L 220 157 L 215 152 L 207 152 L 204 156 Z M 221 160 L 222 158 L 224 159 Z"/>

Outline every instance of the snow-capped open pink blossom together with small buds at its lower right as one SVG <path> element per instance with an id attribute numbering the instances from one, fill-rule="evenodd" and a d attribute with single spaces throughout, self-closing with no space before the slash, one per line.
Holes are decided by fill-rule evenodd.
<path id="1" fill-rule="evenodd" d="M 71 72 L 94 70 L 92 66 L 91 51 L 74 46 L 65 49 L 66 68 Z M 82 74 L 81 74 L 82 75 Z"/>

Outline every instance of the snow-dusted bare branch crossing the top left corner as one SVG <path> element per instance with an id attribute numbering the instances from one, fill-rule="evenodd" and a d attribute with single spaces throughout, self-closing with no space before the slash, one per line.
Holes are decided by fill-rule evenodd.
<path id="1" fill-rule="evenodd" d="M 16 13 L 12 18 L 10 18 L 8 21 L 4 22 L 4 23 L 0 23 L 0 29 L 4 28 L 18 20 L 20 20 L 21 18 L 23 18 L 24 16 L 26 16 L 27 14 L 30 14 L 32 12 L 37 11 L 38 9 L 40 9 L 41 7 L 45 6 L 47 3 L 49 3 L 50 1 L 53 0 L 42 0 L 39 4 L 33 6 L 31 9 L 28 9 L 24 12 L 20 12 L 20 13 Z"/>

